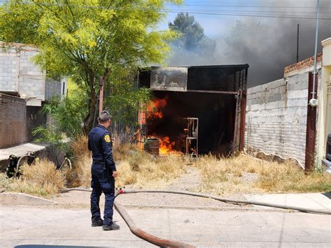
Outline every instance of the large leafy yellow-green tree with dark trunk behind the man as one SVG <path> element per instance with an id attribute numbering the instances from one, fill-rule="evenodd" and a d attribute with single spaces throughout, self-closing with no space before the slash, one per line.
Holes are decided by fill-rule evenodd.
<path id="1" fill-rule="evenodd" d="M 48 75 L 71 75 L 87 90 L 91 128 L 100 78 L 115 66 L 160 63 L 173 31 L 157 31 L 165 2 L 181 0 L 12 0 L 0 7 L 0 40 L 38 46 Z"/>

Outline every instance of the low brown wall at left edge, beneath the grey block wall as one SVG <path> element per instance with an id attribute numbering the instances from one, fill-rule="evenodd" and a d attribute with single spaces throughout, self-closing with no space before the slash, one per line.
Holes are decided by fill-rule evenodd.
<path id="1" fill-rule="evenodd" d="M 0 94 L 0 148 L 27 141 L 26 101 Z"/>

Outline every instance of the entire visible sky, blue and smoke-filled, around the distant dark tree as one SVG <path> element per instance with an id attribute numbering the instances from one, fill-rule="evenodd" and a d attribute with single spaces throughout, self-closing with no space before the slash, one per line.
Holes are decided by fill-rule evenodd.
<path id="1" fill-rule="evenodd" d="M 159 29 L 167 29 L 178 12 L 188 12 L 204 28 L 205 35 L 216 41 L 214 58 L 183 59 L 187 52 L 182 51 L 172 54 L 168 66 L 249 64 L 249 87 L 282 78 L 284 67 L 296 62 L 297 24 L 299 61 L 314 55 L 316 3 L 317 0 L 185 0 L 182 6 L 168 4 L 168 15 Z M 331 0 L 320 0 L 320 18 L 318 52 L 322 50 L 321 41 L 331 37 Z M 237 22 L 244 28 L 239 29 Z"/>

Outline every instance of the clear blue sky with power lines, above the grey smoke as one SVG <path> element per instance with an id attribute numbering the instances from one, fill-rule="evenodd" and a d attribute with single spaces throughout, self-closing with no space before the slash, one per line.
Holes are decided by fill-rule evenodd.
<path id="1" fill-rule="evenodd" d="M 290 10 L 287 10 L 287 8 L 284 7 L 288 6 L 288 3 L 290 3 L 292 7 L 297 6 L 304 8 L 291 8 Z M 196 21 L 205 29 L 205 34 L 209 38 L 217 38 L 221 35 L 228 34 L 228 31 L 230 30 L 229 26 L 235 23 L 236 20 L 244 21 L 247 20 L 247 18 L 251 18 L 259 20 L 260 22 L 274 22 L 278 19 L 270 17 L 245 17 L 238 16 L 236 13 L 247 15 L 282 15 L 286 11 L 292 11 L 300 13 L 290 13 L 288 15 L 308 15 L 309 17 L 315 17 L 316 12 L 314 8 L 316 8 L 316 3 L 316 0 L 184 0 L 181 6 L 175 4 L 166 5 L 168 10 L 174 12 L 168 13 L 165 20 L 161 22 L 160 29 L 168 28 L 168 22 L 172 22 L 175 19 L 177 12 L 191 12 L 191 15 L 194 15 Z M 320 4 L 325 8 L 329 8 L 323 9 L 321 12 L 331 13 L 331 0 L 320 0 Z M 276 8 L 277 6 L 280 8 Z M 250 13 L 241 13 L 240 11 L 249 11 Z M 271 12 L 265 13 L 265 11 Z M 204 14 L 198 14 L 197 12 L 202 12 Z M 217 12 L 226 15 L 208 15 L 208 13 Z M 228 14 L 231 16 L 227 16 Z M 331 18 L 330 14 L 327 15 L 320 13 L 320 15 L 320 17 Z M 315 22 L 315 20 L 310 20 L 309 22 Z"/>

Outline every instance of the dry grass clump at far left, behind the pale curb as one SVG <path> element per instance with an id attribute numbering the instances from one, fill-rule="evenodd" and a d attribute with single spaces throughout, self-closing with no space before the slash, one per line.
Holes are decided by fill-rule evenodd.
<path id="1" fill-rule="evenodd" d="M 54 163 L 42 159 L 32 166 L 22 166 L 20 179 L 8 179 L 1 174 L 1 184 L 8 191 L 32 194 L 36 196 L 50 197 L 64 189 L 66 181 Z"/>

